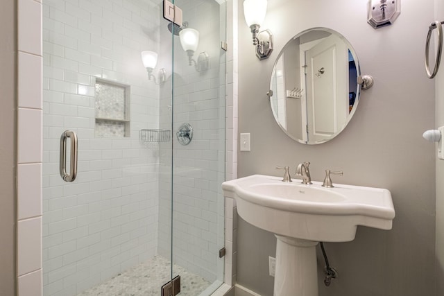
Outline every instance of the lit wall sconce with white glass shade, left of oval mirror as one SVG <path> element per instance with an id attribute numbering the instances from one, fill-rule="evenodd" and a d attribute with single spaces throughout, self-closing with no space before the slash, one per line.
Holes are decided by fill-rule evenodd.
<path id="1" fill-rule="evenodd" d="M 256 55 L 259 60 L 264 60 L 273 51 L 273 33 L 270 30 L 259 32 L 266 14 L 267 0 L 245 0 L 244 17 L 247 25 L 253 33 L 253 45 L 256 46 Z"/>

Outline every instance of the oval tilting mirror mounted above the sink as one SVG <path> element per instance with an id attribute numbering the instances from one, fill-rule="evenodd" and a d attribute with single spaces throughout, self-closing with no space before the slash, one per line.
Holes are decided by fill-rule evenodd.
<path id="1" fill-rule="evenodd" d="M 336 137 L 355 114 L 359 64 L 350 43 L 329 28 L 311 28 L 284 46 L 271 74 L 276 122 L 300 143 Z"/>

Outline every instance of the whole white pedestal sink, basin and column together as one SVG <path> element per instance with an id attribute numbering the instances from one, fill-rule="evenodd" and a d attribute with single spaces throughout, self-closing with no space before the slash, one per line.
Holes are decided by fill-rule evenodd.
<path id="1" fill-rule="evenodd" d="M 395 209 L 387 189 L 334 184 L 323 188 L 298 180 L 251 175 L 223 182 L 239 216 L 273 232 L 276 245 L 275 296 L 317 296 L 316 245 L 355 239 L 358 225 L 391 229 Z"/>

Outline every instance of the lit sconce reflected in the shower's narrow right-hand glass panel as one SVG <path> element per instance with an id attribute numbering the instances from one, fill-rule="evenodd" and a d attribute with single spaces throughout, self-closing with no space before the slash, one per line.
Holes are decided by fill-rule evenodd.
<path id="1" fill-rule="evenodd" d="M 205 71 L 210 67 L 210 56 L 205 51 L 199 53 L 197 62 L 193 60 L 194 52 L 199 44 L 199 31 L 192 28 L 185 28 L 179 32 L 180 45 L 187 52 L 188 64 L 194 64 L 196 71 Z"/>

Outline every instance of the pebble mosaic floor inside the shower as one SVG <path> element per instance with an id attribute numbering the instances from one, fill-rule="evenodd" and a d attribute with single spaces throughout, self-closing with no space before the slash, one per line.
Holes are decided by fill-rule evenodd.
<path id="1" fill-rule="evenodd" d="M 211 284 L 178 265 L 174 265 L 174 273 L 180 275 L 180 296 L 199 295 Z M 160 287 L 170 275 L 170 261 L 162 256 L 155 256 L 78 296 L 159 296 Z"/>

